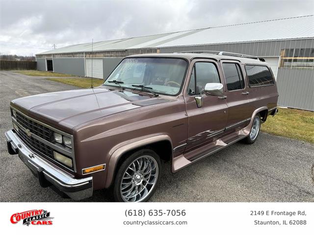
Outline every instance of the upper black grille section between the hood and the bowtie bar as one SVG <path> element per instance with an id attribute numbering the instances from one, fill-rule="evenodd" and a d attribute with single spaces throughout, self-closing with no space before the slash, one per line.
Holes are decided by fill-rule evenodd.
<path id="1" fill-rule="evenodd" d="M 35 134 L 36 136 L 41 137 L 42 139 L 46 141 L 51 141 L 52 138 L 52 130 L 49 128 L 42 126 L 38 124 L 37 122 L 34 122 L 22 114 L 16 112 L 16 120 L 17 122 L 23 126 L 24 128 L 30 130 L 31 133 Z M 27 137 L 27 135 L 26 135 Z M 36 140 L 35 140 L 36 141 Z"/>

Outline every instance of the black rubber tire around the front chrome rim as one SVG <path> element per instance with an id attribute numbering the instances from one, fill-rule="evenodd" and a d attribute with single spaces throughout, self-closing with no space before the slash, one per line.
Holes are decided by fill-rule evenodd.
<path id="1" fill-rule="evenodd" d="M 136 200 L 136 202 L 137 201 L 146 202 L 154 194 L 154 192 L 155 192 L 155 190 L 156 190 L 156 188 L 157 188 L 157 186 L 159 184 L 159 180 L 160 180 L 160 172 L 161 172 L 160 158 L 151 149 L 141 149 L 141 150 L 138 150 L 138 151 L 132 153 L 130 156 L 127 156 L 126 159 L 124 160 L 124 162 L 120 166 L 118 166 L 118 169 L 117 169 L 116 174 L 115 174 L 114 181 L 112 183 L 113 185 L 111 186 L 111 193 L 112 193 L 113 200 L 115 202 L 126 202 L 123 199 L 123 196 L 122 196 L 122 193 L 121 193 L 121 187 L 122 187 L 121 182 L 123 180 L 123 176 L 124 176 L 125 172 L 128 170 L 129 166 L 135 160 L 137 160 L 137 159 L 139 159 L 140 157 L 143 157 L 143 156 L 150 156 L 151 158 L 155 159 L 156 162 L 150 158 L 150 160 L 152 160 L 152 162 L 154 164 L 156 164 L 156 172 L 157 173 L 156 173 L 156 177 L 154 177 L 154 182 L 155 182 L 154 186 L 148 191 L 148 193 L 145 196 L 145 198 L 143 198 L 142 200 Z M 134 166 L 134 168 L 136 169 L 135 166 Z M 134 175 L 135 175 L 135 172 L 134 172 Z M 142 180 L 142 181 L 143 181 L 143 184 L 144 184 L 144 180 Z M 146 182 L 148 183 L 148 181 L 146 181 Z"/>

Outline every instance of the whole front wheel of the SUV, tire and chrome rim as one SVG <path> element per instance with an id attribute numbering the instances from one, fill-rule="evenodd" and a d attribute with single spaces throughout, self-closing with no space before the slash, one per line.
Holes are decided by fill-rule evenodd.
<path id="1" fill-rule="evenodd" d="M 150 149 L 131 154 L 118 168 L 113 182 L 117 202 L 144 202 L 155 192 L 160 178 L 160 159 Z"/>

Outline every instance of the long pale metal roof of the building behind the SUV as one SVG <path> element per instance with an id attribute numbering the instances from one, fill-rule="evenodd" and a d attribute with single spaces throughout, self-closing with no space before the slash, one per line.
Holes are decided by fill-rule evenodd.
<path id="1" fill-rule="evenodd" d="M 227 44 L 302 38 L 314 38 L 314 15 L 95 42 L 93 43 L 93 51 Z M 71 45 L 39 54 L 84 51 L 92 51 L 92 44 L 84 43 Z"/>

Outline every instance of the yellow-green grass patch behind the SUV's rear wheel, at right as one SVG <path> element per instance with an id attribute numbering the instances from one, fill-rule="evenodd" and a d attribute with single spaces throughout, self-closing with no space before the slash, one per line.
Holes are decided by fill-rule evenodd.
<path id="1" fill-rule="evenodd" d="M 261 130 L 276 136 L 314 143 L 314 112 L 279 108 L 274 117 L 267 117 Z"/>

